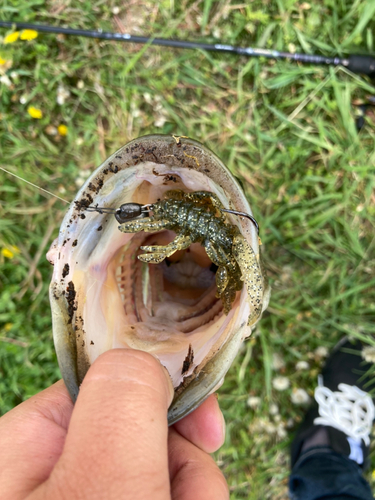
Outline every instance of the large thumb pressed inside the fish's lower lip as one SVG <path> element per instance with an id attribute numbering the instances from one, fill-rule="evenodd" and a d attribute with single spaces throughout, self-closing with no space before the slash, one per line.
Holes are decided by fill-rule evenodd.
<path id="1" fill-rule="evenodd" d="M 153 356 L 131 349 L 108 351 L 93 363 L 42 498 L 169 498 L 173 387 L 165 372 Z"/>

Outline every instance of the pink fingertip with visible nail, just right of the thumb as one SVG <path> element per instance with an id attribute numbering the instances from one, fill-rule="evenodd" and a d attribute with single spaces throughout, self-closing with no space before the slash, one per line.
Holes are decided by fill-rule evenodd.
<path id="1" fill-rule="evenodd" d="M 195 411 L 174 428 L 184 438 L 207 453 L 213 453 L 224 443 L 225 421 L 215 394 L 206 399 Z"/>

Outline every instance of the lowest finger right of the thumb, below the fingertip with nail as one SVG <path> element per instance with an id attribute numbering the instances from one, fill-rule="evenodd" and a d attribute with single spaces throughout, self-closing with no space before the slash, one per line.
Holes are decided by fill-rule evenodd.
<path id="1" fill-rule="evenodd" d="M 228 500 L 225 478 L 215 461 L 175 429 L 169 434 L 169 474 L 173 500 Z"/>

